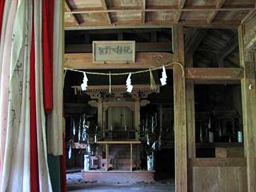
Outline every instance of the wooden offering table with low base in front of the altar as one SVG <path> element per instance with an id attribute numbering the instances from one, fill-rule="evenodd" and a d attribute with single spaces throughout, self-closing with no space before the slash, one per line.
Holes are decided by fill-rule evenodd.
<path id="1" fill-rule="evenodd" d="M 105 158 L 102 156 L 102 161 L 100 164 L 100 168 L 97 170 L 82 170 L 82 178 L 84 181 L 97 181 L 97 182 L 106 182 L 106 183 L 136 183 L 136 182 L 152 182 L 154 181 L 154 171 L 148 170 L 133 170 L 134 166 L 136 168 L 139 167 L 137 162 L 139 156 L 137 155 L 137 148 L 139 147 L 141 141 L 98 141 L 98 145 L 104 145 L 104 150 L 106 152 Z M 129 146 L 129 156 L 125 155 L 127 152 L 127 148 L 123 148 L 123 146 Z M 137 148 L 136 152 L 133 149 L 133 146 Z M 113 148 L 115 146 L 115 148 Z M 113 162 L 111 164 L 110 160 L 110 152 L 113 150 L 119 150 L 120 154 L 117 156 L 117 161 L 123 162 L 123 164 L 127 164 L 129 162 L 129 168 L 121 168 L 121 166 L 117 166 L 117 168 L 113 168 Z M 119 156 L 122 156 L 119 159 Z M 138 156 L 138 157 L 137 157 Z M 126 157 L 126 158 L 125 158 Z M 101 168 L 102 162 L 104 162 L 104 167 Z M 135 162 L 135 163 L 134 163 Z M 113 166 L 111 168 L 111 166 Z M 110 169 L 111 168 L 111 169 Z"/>

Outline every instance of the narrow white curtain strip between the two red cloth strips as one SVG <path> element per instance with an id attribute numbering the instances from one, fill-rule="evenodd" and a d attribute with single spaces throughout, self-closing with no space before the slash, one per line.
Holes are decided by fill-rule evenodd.
<path id="1" fill-rule="evenodd" d="M 42 0 L 34 1 L 36 133 L 38 146 L 38 172 L 40 191 L 52 191 L 47 163 L 46 121 L 42 82 Z"/>

